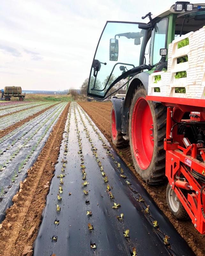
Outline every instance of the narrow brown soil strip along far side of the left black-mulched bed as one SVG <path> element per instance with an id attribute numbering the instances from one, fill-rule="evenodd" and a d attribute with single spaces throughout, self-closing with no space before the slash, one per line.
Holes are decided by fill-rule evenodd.
<path id="1" fill-rule="evenodd" d="M 24 118 L 24 119 L 22 119 L 21 121 L 19 121 L 19 122 L 17 122 L 17 123 L 14 123 L 14 124 L 12 124 L 12 125 L 10 125 L 10 126 L 8 126 L 8 127 L 7 127 L 6 129 L 4 129 L 4 130 L 0 130 L 0 138 L 2 138 L 3 136 L 5 136 L 6 134 L 12 132 L 13 130 L 15 130 L 15 129 L 18 128 L 19 126 L 21 126 L 21 125 L 27 123 L 28 121 L 30 121 L 30 120 L 33 119 L 34 117 L 41 115 L 43 112 L 45 112 L 45 111 L 48 110 L 49 108 L 54 107 L 55 105 L 57 105 L 57 103 L 54 104 L 54 105 L 52 105 L 52 106 L 50 106 L 50 107 L 48 107 L 48 108 L 42 109 L 41 111 L 39 111 L 39 112 L 33 114 L 32 116 L 28 116 L 27 118 Z M 27 108 L 27 109 L 28 109 L 28 108 Z M 21 110 L 21 111 L 22 111 L 22 110 Z M 13 113 L 12 113 L 12 114 L 13 114 Z"/>

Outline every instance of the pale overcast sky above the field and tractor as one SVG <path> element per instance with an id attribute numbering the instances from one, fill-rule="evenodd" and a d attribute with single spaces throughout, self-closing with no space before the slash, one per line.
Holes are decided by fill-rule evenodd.
<path id="1" fill-rule="evenodd" d="M 191 1 L 197 3 L 200 1 Z M 106 20 L 140 21 L 162 0 L 0 0 L 0 88 L 80 88 Z M 148 22 L 148 20 L 145 20 Z"/>

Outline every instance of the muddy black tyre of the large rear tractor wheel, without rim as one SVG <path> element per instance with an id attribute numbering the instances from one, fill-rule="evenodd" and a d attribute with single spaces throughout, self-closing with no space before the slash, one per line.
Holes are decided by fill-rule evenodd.
<path id="1" fill-rule="evenodd" d="M 166 115 L 167 108 L 161 103 L 156 103 L 154 101 L 148 101 L 148 105 L 151 110 L 151 115 L 153 118 L 153 132 L 154 132 L 154 149 L 151 162 L 147 169 L 141 169 L 140 165 L 135 159 L 135 154 L 133 150 L 132 142 L 132 117 L 133 110 L 136 101 L 147 95 L 146 90 L 143 85 L 140 85 L 138 89 L 135 90 L 130 106 L 130 117 L 129 117 L 129 138 L 130 138 L 130 149 L 133 159 L 133 165 L 140 177 L 150 185 L 158 185 L 164 181 L 165 177 L 165 150 L 164 150 L 164 138 L 166 137 Z"/>

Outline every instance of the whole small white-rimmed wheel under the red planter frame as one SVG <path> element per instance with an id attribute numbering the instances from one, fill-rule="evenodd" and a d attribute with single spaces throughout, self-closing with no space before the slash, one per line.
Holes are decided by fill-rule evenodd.
<path id="1" fill-rule="evenodd" d="M 188 220 L 189 215 L 186 212 L 184 206 L 178 199 L 178 196 L 174 192 L 174 190 L 171 188 L 170 184 L 167 184 L 167 190 L 166 190 L 166 199 L 167 199 L 167 205 L 171 211 L 171 213 L 178 219 L 178 220 Z"/>

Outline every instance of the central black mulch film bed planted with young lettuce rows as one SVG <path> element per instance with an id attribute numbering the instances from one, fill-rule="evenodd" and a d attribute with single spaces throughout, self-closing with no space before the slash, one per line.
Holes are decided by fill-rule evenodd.
<path id="1" fill-rule="evenodd" d="M 195 255 L 74 102 L 34 242 L 47 255 Z"/>

